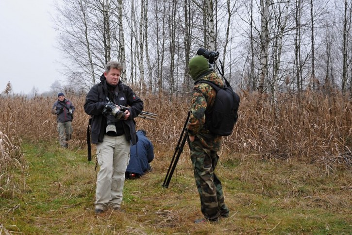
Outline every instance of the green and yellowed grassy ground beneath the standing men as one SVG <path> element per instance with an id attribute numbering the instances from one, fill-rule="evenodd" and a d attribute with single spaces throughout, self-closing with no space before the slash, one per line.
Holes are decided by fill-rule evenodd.
<path id="1" fill-rule="evenodd" d="M 95 164 L 85 151 L 24 144 L 26 191 L 0 199 L 1 231 L 23 234 L 351 234 L 352 173 L 324 174 L 317 166 L 229 158 L 218 166 L 230 217 L 195 225 L 200 202 L 189 160 L 178 164 L 170 187 L 169 159 L 125 182 L 122 208 L 94 214 Z M 167 163 L 165 163 L 167 161 Z M 164 162 L 162 164 L 162 162 Z M 2 229 L 2 230 L 1 230 Z"/>

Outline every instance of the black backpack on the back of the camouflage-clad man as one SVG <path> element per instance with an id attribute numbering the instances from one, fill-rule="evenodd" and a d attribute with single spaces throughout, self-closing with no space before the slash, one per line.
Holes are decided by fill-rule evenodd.
<path id="1" fill-rule="evenodd" d="M 200 80 L 198 83 L 206 83 L 217 91 L 213 112 L 205 113 L 205 123 L 210 132 L 222 136 L 232 134 L 238 118 L 239 96 L 227 81 L 224 88 L 205 80 Z"/>

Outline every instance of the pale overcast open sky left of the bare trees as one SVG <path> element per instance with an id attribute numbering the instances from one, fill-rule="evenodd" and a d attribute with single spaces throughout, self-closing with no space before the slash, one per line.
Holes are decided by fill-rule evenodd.
<path id="1" fill-rule="evenodd" d="M 50 14 L 53 0 L 0 0 L 0 93 L 50 91 L 60 74 L 60 51 Z"/>

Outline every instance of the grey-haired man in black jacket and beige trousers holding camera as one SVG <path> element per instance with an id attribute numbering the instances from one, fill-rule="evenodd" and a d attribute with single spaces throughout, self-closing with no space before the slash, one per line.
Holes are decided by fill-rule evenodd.
<path id="1" fill-rule="evenodd" d="M 92 116 L 91 142 L 97 144 L 100 171 L 97 177 L 95 213 L 120 210 L 125 172 L 129 162 L 131 144 L 137 141 L 134 117 L 143 110 L 141 101 L 133 90 L 120 81 L 122 65 L 110 61 L 85 98 L 84 111 Z M 106 98 L 117 105 L 130 106 L 120 118 L 103 114 Z"/>

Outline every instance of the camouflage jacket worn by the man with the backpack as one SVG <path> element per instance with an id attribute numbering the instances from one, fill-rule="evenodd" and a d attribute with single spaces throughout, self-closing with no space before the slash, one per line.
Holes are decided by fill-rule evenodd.
<path id="1" fill-rule="evenodd" d="M 224 87 L 224 82 L 213 71 L 198 78 L 195 84 L 199 80 L 212 82 L 221 88 Z M 212 111 L 215 96 L 216 90 L 208 84 L 198 83 L 193 87 L 191 115 L 186 128 L 190 136 L 196 136 L 201 140 L 204 148 L 219 151 L 222 136 L 210 133 L 205 124 L 205 112 Z"/>

